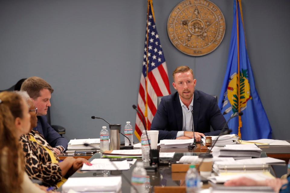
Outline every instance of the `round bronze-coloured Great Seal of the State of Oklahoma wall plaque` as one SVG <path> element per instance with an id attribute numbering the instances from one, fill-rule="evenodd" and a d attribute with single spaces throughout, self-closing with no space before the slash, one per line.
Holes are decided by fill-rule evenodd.
<path id="1" fill-rule="evenodd" d="M 202 56 L 214 51 L 225 33 L 224 15 L 207 0 L 185 0 L 171 11 L 167 33 L 171 43 L 180 51 Z"/>

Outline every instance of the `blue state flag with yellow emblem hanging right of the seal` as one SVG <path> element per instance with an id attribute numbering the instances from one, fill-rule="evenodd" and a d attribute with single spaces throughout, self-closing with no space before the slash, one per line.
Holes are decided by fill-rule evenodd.
<path id="1" fill-rule="evenodd" d="M 232 133 L 242 140 L 270 139 L 272 129 L 255 88 L 255 81 L 246 49 L 243 14 L 240 0 L 234 0 L 233 28 L 227 71 L 218 101 L 225 119 L 239 112 L 242 116 L 228 123 Z"/>

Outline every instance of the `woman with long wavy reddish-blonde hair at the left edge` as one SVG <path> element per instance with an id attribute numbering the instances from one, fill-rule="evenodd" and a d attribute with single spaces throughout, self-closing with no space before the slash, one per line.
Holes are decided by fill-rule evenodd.
<path id="1" fill-rule="evenodd" d="M 12 92 L 0 93 L 0 190 L 1 192 L 46 192 L 24 172 L 19 139 L 30 131 L 27 103 Z"/>

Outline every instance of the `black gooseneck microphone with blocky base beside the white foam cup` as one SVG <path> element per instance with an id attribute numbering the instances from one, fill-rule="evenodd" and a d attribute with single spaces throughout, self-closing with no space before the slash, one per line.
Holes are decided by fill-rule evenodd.
<path id="1" fill-rule="evenodd" d="M 137 113 L 142 117 L 142 120 L 143 120 L 143 116 L 142 116 L 141 112 L 137 109 L 137 106 L 136 105 L 132 105 L 132 107 L 133 107 L 133 109 L 135 109 L 137 111 Z M 149 138 L 148 138 L 148 134 L 147 134 L 147 130 L 146 130 L 146 127 L 145 127 L 145 123 L 144 122 L 143 122 L 143 126 L 144 126 L 144 130 L 146 132 L 146 135 L 147 135 L 147 140 L 149 142 L 149 148 L 150 148 L 149 157 L 150 157 L 150 166 L 151 166 L 151 167 L 144 167 L 144 168 L 147 171 L 154 171 L 154 172 L 156 172 L 157 171 L 156 165 L 157 166 L 159 165 L 159 151 L 157 149 L 156 150 L 152 150 L 151 149 L 151 144 L 150 144 L 150 141 L 149 141 Z"/>

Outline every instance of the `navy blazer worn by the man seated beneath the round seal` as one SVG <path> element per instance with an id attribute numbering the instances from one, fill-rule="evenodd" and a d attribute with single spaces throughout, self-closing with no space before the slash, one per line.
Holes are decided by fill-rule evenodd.
<path id="1" fill-rule="evenodd" d="M 202 91 L 194 91 L 193 111 L 194 131 L 205 136 L 218 135 L 226 124 L 216 98 Z M 151 124 L 151 130 L 159 130 L 158 141 L 175 139 L 177 132 L 182 131 L 182 124 L 182 107 L 178 92 L 163 96 Z M 211 126 L 214 129 L 212 132 Z"/>

